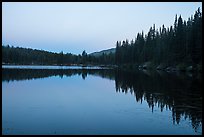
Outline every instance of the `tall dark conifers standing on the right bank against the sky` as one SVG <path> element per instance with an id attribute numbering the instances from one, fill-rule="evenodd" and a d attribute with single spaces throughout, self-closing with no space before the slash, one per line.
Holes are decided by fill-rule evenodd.
<path id="1" fill-rule="evenodd" d="M 151 64 L 154 67 L 172 66 L 182 69 L 186 66 L 202 65 L 202 13 L 200 8 L 188 21 L 176 15 L 173 26 L 159 29 L 155 24 L 147 35 L 138 33 L 135 40 L 117 41 L 116 64 L 139 66 Z M 134 64 L 134 65 L 133 65 Z"/>

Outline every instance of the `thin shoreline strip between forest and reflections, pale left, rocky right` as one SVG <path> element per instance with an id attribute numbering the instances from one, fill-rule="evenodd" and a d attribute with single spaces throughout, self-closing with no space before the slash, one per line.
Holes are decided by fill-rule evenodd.
<path id="1" fill-rule="evenodd" d="M 186 69 L 178 69 L 176 67 L 147 67 L 141 65 L 84 65 L 84 64 L 71 64 L 71 65 L 37 65 L 37 64 L 29 64 L 29 65 L 17 65 L 17 64 L 2 64 L 2 68 L 19 68 L 19 69 L 118 69 L 124 71 L 163 71 L 168 73 L 178 73 L 178 72 L 187 72 L 187 73 L 200 73 L 202 74 L 202 69 L 199 70 L 197 68 L 192 68 L 192 66 L 187 67 Z"/>

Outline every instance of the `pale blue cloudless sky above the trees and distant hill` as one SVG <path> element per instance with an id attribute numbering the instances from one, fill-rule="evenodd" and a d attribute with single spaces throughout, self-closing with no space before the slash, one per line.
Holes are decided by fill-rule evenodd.
<path id="1" fill-rule="evenodd" d="M 81 54 L 115 47 L 155 24 L 184 20 L 202 2 L 3 2 L 2 44 Z"/>

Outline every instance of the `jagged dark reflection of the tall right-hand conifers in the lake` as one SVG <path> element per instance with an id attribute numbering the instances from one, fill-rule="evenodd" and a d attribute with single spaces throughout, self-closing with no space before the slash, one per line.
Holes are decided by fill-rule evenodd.
<path id="1" fill-rule="evenodd" d="M 195 132 L 202 124 L 201 81 L 198 78 L 165 72 L 120 71 L 115 75 L 117 92 L 129 91 L 135 95 L 137 102 L 147 101 L 152 112 L 155 106 L 161 111 L 171 110 L 174 124 L 179 124 L 181 116 L 189 118 Z"/>

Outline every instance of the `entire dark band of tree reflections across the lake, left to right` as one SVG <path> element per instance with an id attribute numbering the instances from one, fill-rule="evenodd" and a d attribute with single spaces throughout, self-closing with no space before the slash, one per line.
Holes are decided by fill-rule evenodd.
<path id="1" fill-rule="evenodd" d="M 2 69 L 3 82 L 73 75 L 81 75 L 84 80 L 88 75 L 115 80 L 116 92 L 130 92 L 135 96 L 136 102 L 146 101 L 152 113 L 155 107 L 160 108 L 161 112 L 169 109 L 173 124 L 179 124 L 184 116 L 191 120 L 195 132 L 202 127 L 202 78 L 198 75 L 104 69 Z"/>

